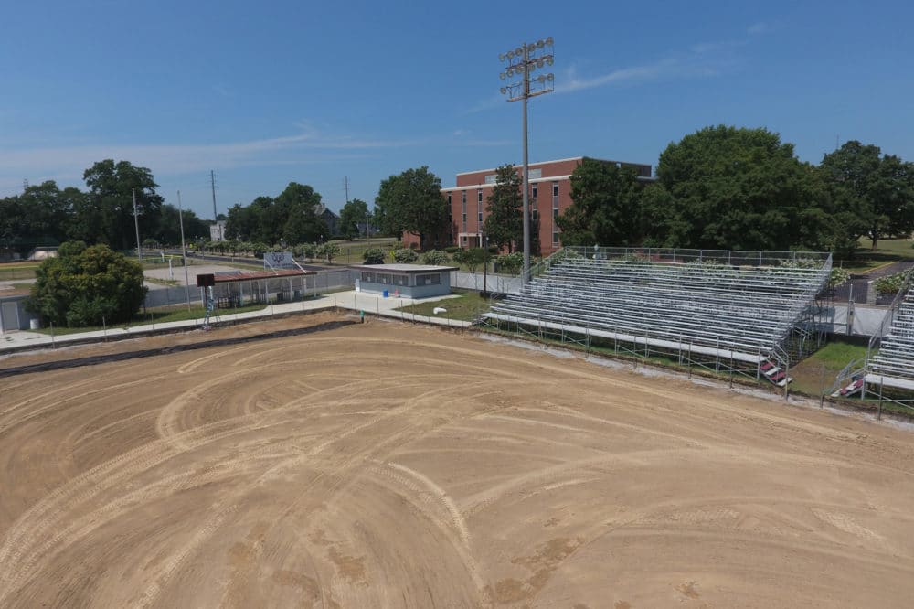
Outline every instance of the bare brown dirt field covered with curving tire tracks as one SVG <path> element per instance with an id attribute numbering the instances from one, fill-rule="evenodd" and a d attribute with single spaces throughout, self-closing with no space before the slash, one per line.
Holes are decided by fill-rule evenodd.
<path id="1" fill-rule="evenodd" d="M 341 319 L 0 359 L 170 351 L 0 378 L 0 606 L 911 605 L 908 431 Z"/>

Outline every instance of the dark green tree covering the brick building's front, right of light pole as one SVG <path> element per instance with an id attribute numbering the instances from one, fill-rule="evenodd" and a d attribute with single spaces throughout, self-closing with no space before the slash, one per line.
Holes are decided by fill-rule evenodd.
<path id="1" fill-rule="evenodd" d="M 556 219 L 566 245 L 636 245 L 643 186 L 632 167 L 585 158 L 571 174 L 571 207 Z"/>

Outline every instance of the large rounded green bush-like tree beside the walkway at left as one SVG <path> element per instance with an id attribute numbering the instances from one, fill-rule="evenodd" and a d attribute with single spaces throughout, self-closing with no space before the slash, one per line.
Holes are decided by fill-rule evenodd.
<path id="1" fill-rule="evenodd" d="M 67 241 L 35 272 L 29 308 L 58 326 L 129 321 L 143 304 L 143 269 L 107 245 Z"/>

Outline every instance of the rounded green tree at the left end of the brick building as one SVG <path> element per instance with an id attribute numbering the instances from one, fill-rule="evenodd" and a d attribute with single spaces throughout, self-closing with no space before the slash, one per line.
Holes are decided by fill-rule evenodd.
<path id="1" fill-rule="evenodd" d="M 375 205 L 382 231 L 414 234 L 422 250 L 441 240 L 446 230 L 448 208 L 441 195 L 441 179 L 427 166 L 382 180 Z"/>

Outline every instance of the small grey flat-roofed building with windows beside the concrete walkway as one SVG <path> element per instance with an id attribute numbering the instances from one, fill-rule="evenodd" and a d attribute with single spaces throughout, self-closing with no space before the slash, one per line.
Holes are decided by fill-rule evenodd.
<path id="1" fill-rule="evenodd" d="M 356 264 L 356 289 L 361 292 L 428 298 L 451 294 L 455 266 L 428 264 Z"/>

